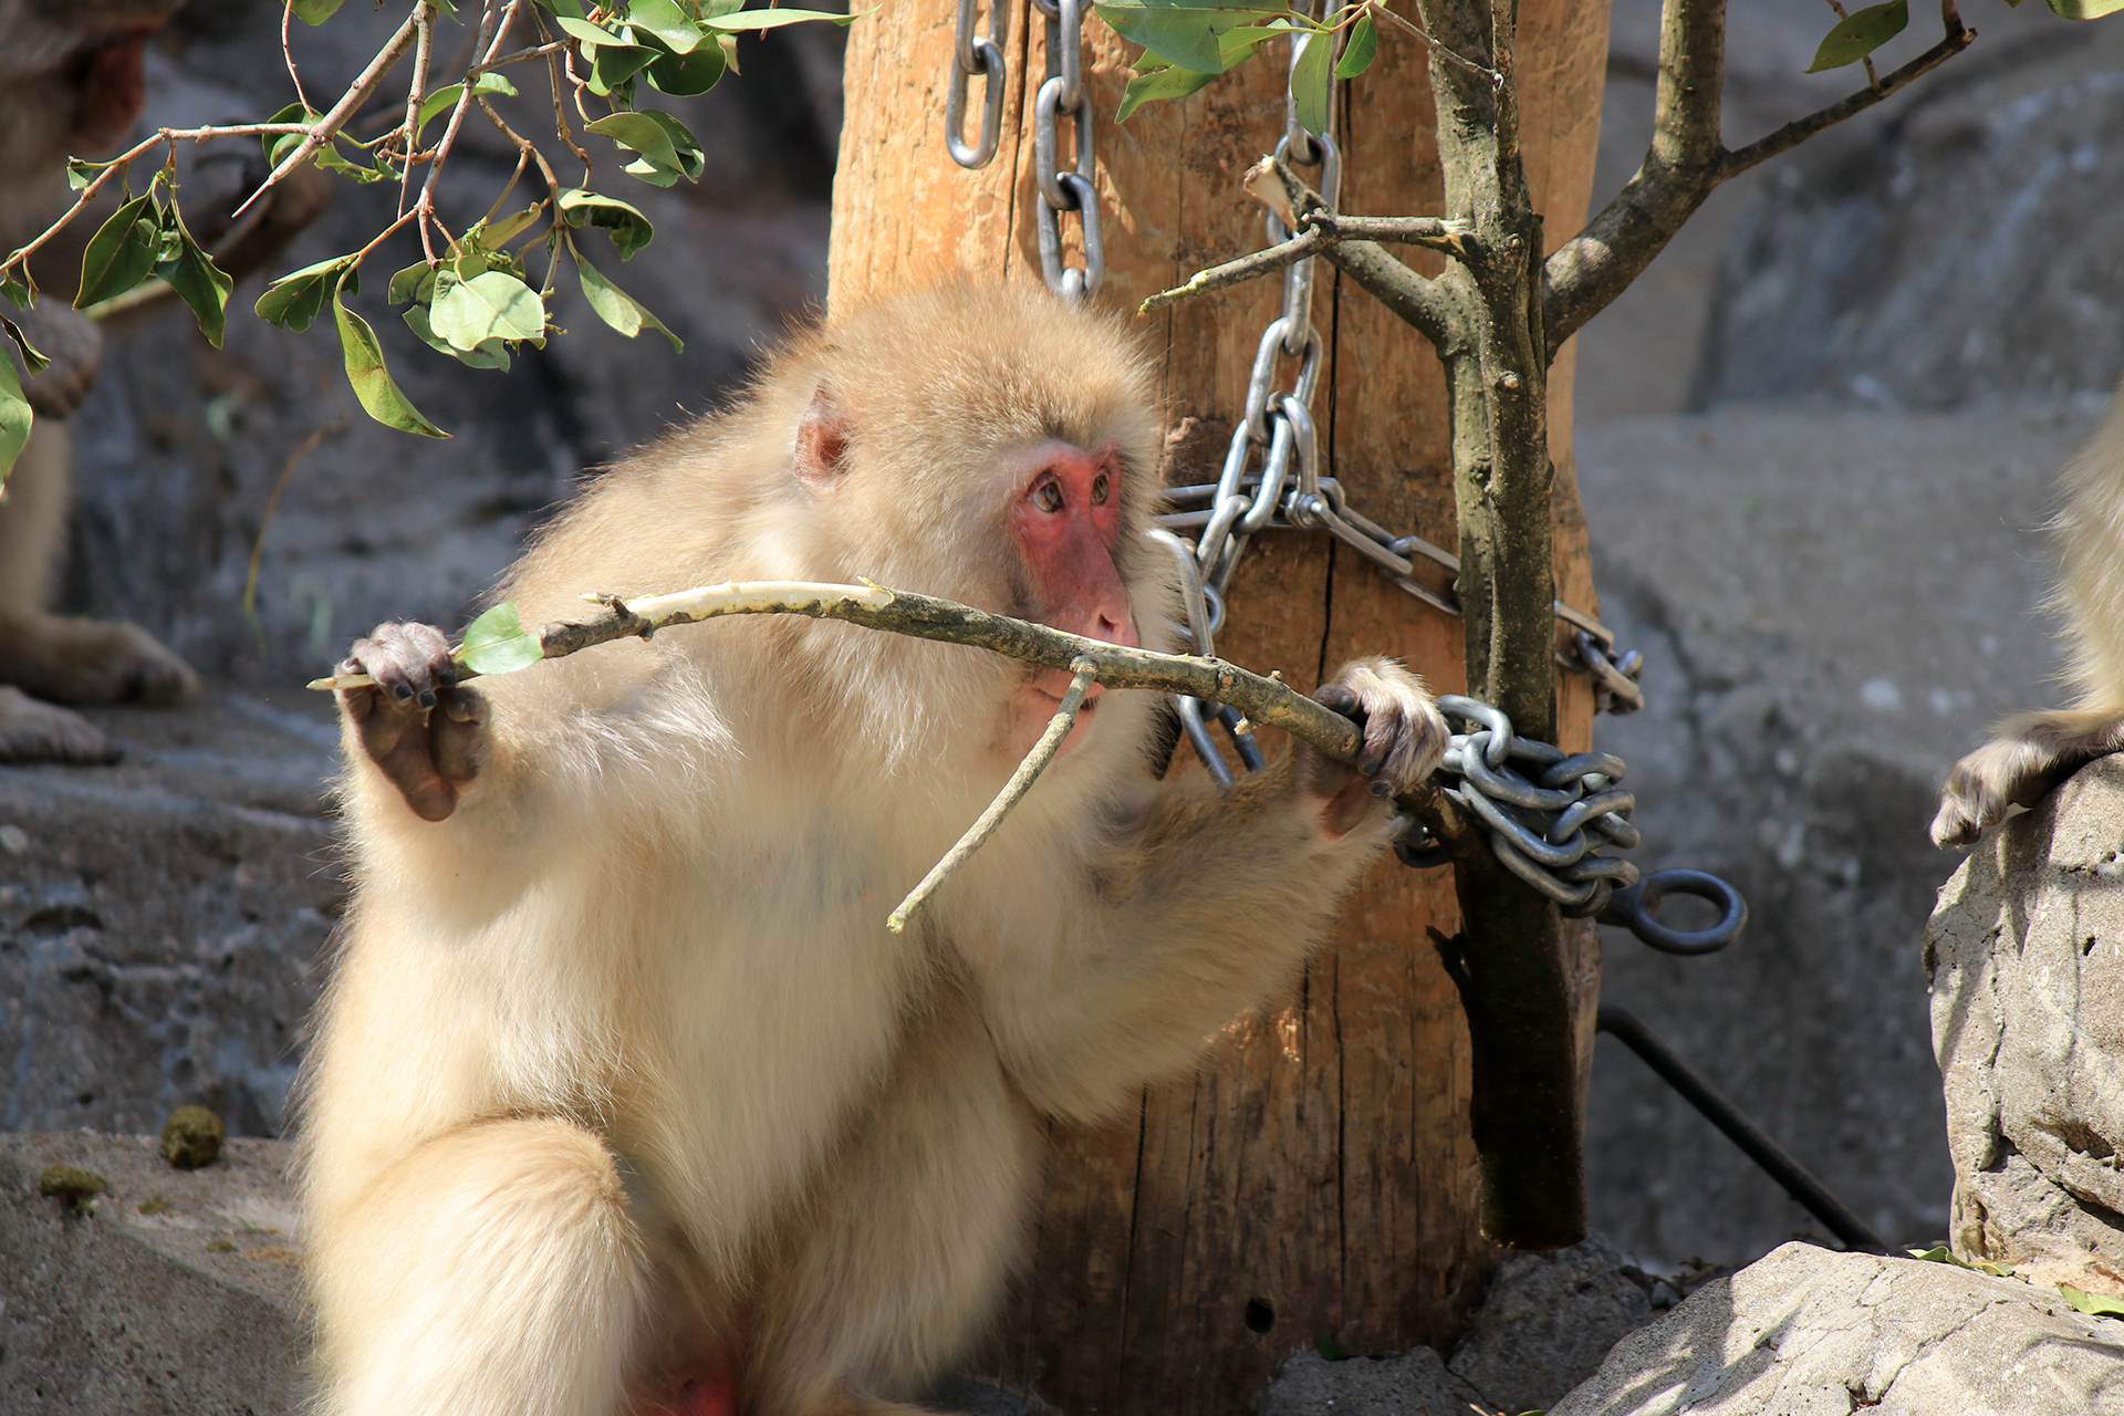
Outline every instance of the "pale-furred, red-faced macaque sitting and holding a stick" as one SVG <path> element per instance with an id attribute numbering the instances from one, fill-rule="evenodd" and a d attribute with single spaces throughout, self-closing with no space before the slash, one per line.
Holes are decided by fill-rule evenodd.
<path id="1" fill-rule="evenodd" d="M 622 461 L 506 577 L 824 580 L 1170 645 L 1149 374 L 1045 293 L 907 293 Z M 1389 660 L 1230 792 L 1098 692 L 907 934 L 1066 673 L 746 616 L 455 686 L 344 671 L 355 856 L 302 1102 L 319 1410 L 909 1412 L 1024 1248 L 1043 1117 L 1113 1117 L 1298 968 L 1444 726 Z"/>

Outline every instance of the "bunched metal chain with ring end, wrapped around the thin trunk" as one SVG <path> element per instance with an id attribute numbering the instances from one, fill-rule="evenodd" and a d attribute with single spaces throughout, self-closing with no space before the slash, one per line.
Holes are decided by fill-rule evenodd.
<path id="1" fill-rule="evenodd" d="M 1627 771 L 1623 758 L 1610 752 L 1565 754 L 1517 737 L 1512 720 L 1480 698 L 1444 694 L 1438 711 L 1463 724 L 1438 764 L 1451 781 L 1444 794 L 1483 824 L 1497 862 L 1555 900 L 1565 919 L 1625 926 L 1663 953 L 1712 953 L 1740 936 L 1748 902 L 1716 875 L 1657 870 L 1640 879 L 1635 864 L 1601 856 L 1604 847 L 1627 851 L 1640 841 L 1629 824 L 1638 798 L 1618 785 Z M 1412 815 L 1395 817 L 1391 836 L 1402 864 L 1446 864 L 1444 847 Z M 1652 906 L 1669 894 L 1718 904 L 1718 921 L 1701 930 L 1661 923 Z"/>

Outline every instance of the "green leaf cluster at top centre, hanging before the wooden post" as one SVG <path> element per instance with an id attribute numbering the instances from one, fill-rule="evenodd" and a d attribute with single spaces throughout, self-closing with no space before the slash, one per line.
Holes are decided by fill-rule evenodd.
<path id="1" fill-rule="evenodd" d="M 1136 76 L 1121 93 L 1117 123 L 1126 123 L 1143 104 L 1185 98 L 1209 85 L 1217 74 L 1253 57 L 1274 38 L 1296 38 L 1298 57 L 1291 64 L 1291 102 L 1298 121 L 1311 134 L 1328 132 L 1328 93 L 1336 79 L 1355 79 L 1378 55 L 1378 28 L 1372 0 L 1344 4 L 1313 19 L 1281 4 L 1238 0 L 1234 4 L 1194 4 L 1170 0 L 1100 0 L 1100 19 L 1121 38 L 1143 45 Z M 1336 42 L 1347 32 L 1342 57 Z"/>

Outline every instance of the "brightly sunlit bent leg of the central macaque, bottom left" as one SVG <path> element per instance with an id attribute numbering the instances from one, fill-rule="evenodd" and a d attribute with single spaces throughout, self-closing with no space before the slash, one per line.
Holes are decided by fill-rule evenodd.
<path id="1" fill-rule="evenodd" d="M 612 1155 L 565 1121 L 429 1140 L 310 1225 L 319 1412 L 614 1416 L 648 1263 Z"/>

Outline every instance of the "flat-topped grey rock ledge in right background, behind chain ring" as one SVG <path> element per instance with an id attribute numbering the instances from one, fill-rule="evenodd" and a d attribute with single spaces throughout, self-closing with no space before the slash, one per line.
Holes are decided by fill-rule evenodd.
<path id="1" fill-rule="evenodd" d="M 1924 828 L 1990 722 L 2054 701 L 2039 526 L 2090 427 L 2001 403 L 1578 431 L 1601 616 L 1646 654 L 1650 705 L 1595 722 L 1638 794 L 1631 858 L 1716 870 L 1754 911 L 1697 960 L 1604 930 L 1601 998 L 1890 1242 L 1939 1242 L 1952 1185 L 1918 936 L 1954 858 Z M 1820 1233 L 1612 1040 L 1587 1182 L 1593 1229 L 1663 1272 Z"/>

